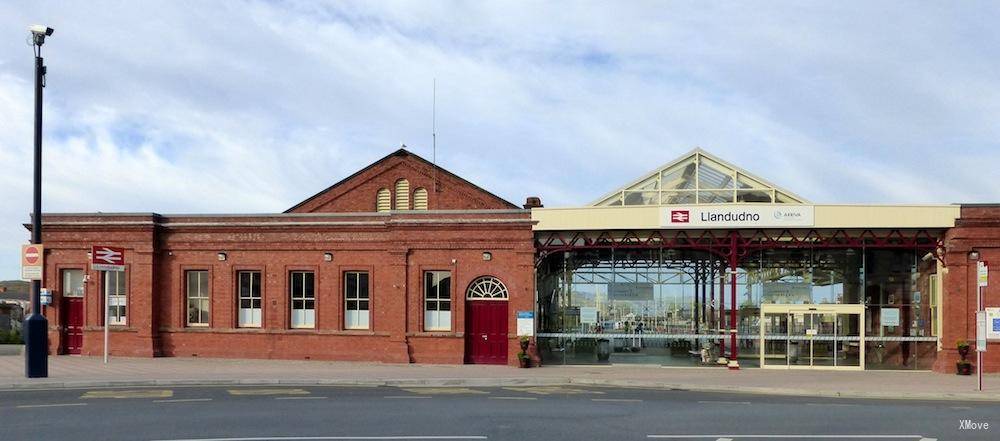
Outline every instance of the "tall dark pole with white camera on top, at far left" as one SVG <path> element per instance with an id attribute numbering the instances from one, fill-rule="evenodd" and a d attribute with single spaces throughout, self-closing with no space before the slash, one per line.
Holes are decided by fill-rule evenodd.
<path id="1" fill-rule="evenodd" d="M 28 27 L 35 52 L 35 191 L 31 214 L 31 243 L 42 243 L 42 88 L 45 87 L 45 62 L 42 44 L 52 35 L 52 28 Z M 49 322 L 42 315 L 39 297 L 41 280 L 31 281 L 31 314 L 24 319 L 24 375 L 28 378 L 49 376 Z"/>

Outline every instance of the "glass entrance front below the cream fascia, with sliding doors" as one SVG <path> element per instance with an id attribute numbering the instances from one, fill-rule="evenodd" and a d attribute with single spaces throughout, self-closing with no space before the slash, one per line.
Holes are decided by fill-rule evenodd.
<path id="1" fill-rule="evenodd" d="M 630 233 L 544 236 L 537 246 L 552 251 L 539 256 L 536 274 L 547 363 L 929 369 L 934 361 L 936 242 L 923 233 L 666 233 L 639 243 Z M 726 253 L 696 249 L 720 241 L 737 244 L 735 269 Z"/>

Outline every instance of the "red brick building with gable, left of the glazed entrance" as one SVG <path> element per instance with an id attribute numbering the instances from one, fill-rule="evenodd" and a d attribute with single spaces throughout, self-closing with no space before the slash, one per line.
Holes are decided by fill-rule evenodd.
<path id="1" fill-rule="evenodd" d="M 405 150 L 285 213 L 47 214 L 50 349 L 514 363 L 534 309 L 530 212 Z M 126 271 L 89 269 L 92 245 Z"/>

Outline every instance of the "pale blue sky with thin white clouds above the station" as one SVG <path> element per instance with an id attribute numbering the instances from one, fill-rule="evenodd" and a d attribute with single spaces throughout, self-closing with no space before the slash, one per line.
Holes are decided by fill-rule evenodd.
<path id="1" fill-rule="evenodd" d="M 751 4 L 756 3 L 756 4 Z M 701 147 L 816 203 L 1000 202 L 992 2 L 0 3 L 0 279 L 31 210 L 281 212 L 405 143 L 514 203 Z"/>

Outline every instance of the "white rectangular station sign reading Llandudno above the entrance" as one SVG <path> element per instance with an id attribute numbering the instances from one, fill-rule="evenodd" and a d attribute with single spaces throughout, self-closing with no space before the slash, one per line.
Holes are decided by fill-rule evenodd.
<path id="1" fill-rule="evenodd" d="M 676 205 L 663 207 L 663 228 L 792 228 L 815 223 L 812 205 Z"/>

